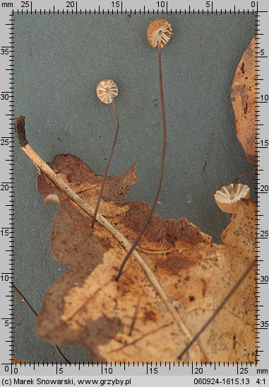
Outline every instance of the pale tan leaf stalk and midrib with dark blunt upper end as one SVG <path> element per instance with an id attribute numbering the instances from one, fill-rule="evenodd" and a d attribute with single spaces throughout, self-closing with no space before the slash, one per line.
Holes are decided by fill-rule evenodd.
<path id="1" fill-rule="evenodd" d="M 30 158 L 37 170 L 40 171 L 40 173 L 43 173 L 47 179 L 49 179 L 54 185 L 56 185 L 62 195 L 66 195 L 67 197 L 69 197 L 69 199 L 76 203 L 80 207 L 80 209 L 82 209 L 86 214 L 92 216 L 94 213 L 94 207 L 92 207 L 92 205 L 88 202 L 85 202 L 83 199 L 81 199 L 81 197 L 79 197 L 76 192 L 71 189 L 71 187 L 64 183 L 64 181 L 61 180 L 58 175 L 56 175 L 52 168 L 50 168 L 47 163 L 45 163 L 44 160 L 42 160 L 42 158 L 35 152 L 35 150 L 32 149 L 32 146 L 28 144 L 28 140 L 25 136 L 25 117 L 20 116 L 14 120 L 14 130 L 16 136 L 18 137 L 20 149 L 22 149 L 22 151 L 24 151 L 25 154 Z M 104 229 L 111 233 L 111 235 L 114 236 L 117 241 L 119 241 L 121 246 L 125 248 L 126 251 L 131 248 L 131 242 L 128 241 L 128 239 L 118 229 L 112 226 L 112 224 L 104 216 L 97 213 L 96 220 L 104 227 Z M 157 280 L 152 270 L 150 270 L 150 267 L 148 267 L 148 265 L 145 263 L 145 260 L 143 260 L 137 250 L 133 251 L 133 256 L 136 258 L 139 265 L 141 265 L 141 268 L 145 272 L 145 275 L 148 277 L 149 282 L 153 285 L 155 291 L 160 296 L 162 303 L 165 305 L 167 311 L 169 311 L 174 322 L 181 330 L 184 340 L 191 340 L 191 338 L 193 337 L 191 331 L 189 330 L 189 328 L 186 327 L 184 321 L 179 315 L 179 312 L 172 305 L 172 302 L 170 301 L 169 297 L 165 293 L 164 289 L 162 288 L 162 285 Z M 203 350 L 198 347 L 198 345 L 194 345 L 193 348 L 193 358 L 195 357 L 205 359 L 205 354 L 203 353 Z"/>

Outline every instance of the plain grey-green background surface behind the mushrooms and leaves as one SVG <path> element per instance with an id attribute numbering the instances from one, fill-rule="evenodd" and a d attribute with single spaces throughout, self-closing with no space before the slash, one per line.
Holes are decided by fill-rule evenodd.
<path id="1" fill-rule="evenodd" d="M 110 168 L 123 173 L 136 161 L 141 183 L 130 200 L 152 202 L 160 165 L 162 127 L 157 50 L 145 31 L 152 15 L 15 17 L 15 115 L 25 115 L 28 139 L 46 161 L 56 154 L 80 156 L 102 173 L 114 136 L 112 107 L 95 96 L 96 84 L 119 86 L 121 123 Z M 162 51 L 167 112 L 165 178 L 157 212 L 187 216 L 214 241 L 229 216 L 213 195 L 251 170 L 235 134 L 230 87 L 244 49 L 254 35 L 253 15 L 172 15 L 174 37 Z M 49 234 L 55 205 L 44 205 L 36 171 L 15 151 L 15 283 L 37 311 L 65 268 L 54 262 Z M 206 168 L 203 170 L 203 166 Z M 253 192 L 253 178 L 244 178 Z M 34 335 L 35 318 L 16 297 L 15 355 L 59 361 L 51 345 Z M 71 360 L 88 361 L 81 347 L 64 348 Z"/>

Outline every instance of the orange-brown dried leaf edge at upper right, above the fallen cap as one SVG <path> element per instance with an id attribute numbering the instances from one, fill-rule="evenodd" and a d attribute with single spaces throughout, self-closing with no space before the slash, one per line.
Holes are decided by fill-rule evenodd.
<path id="1" fill-rule="evenodd" d="M 249 162 L 256 166 L 256 37 L 246 48 L 232 82 L 237 137 Z"/>

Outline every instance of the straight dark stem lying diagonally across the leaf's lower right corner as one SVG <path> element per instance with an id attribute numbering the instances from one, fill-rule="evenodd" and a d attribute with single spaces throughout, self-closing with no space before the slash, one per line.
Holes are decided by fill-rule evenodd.
<path id="1" fill-rule="evenodd" d="M 256 260 L 253 260 L 249 266 L 246 268 L 246 270 L 244 271 L 244 273 L 241 275 L 241 277 L 239 278 L 239 280 L 237 281 L 237 283 L 232 287 L 232 289 L 229 291 L 229 293 L 227 293 L 227 295 L 225 296 L 225 298 L 222 300 L 222 302 L 220 303 L 219 306 L 217 306 L 217 308 L 215 309 L 215 312 L 213 313 L 213 315 L 208 319 L 208 321 L 205 323 L 205 325 L 203 325 L 203 327 L 201 328 L 201 330 L 198 331 L 198 333 L 196 333 L 196 335 L 193 337 L 193 339 L 191 340 L 191 342 L 189 342 L 189 344 L 184 348 L 184 350 L 181 352 L 181 354 L 179 354 L 179 357 L 178 359 L 180 360 L 184 354 L 186 354 L 186 352 L 189 351 L 189 349 L 191 348 L 191 346 L 196 342 L 196 340 L 198 340 L 198 338 L 200 337 L 200 335 L 203 333 L 203 331 L 208 328 L 208 325 L 210 325 L 210 323 L 212 323 L 212 321 L 214 320 L 214 318 L 217 316 L 217 314 L 222 310 L 222 308 L 225 306 L 225 304 L 227 303 L 227 301 L 229 301 L 229 299 L 231 298 L 231 296 L 234 294 L 234 292 L 238 289 L 238 287 L 241 285 L 241 283 L 244 281 L 244 279 L 249 275 L 249 272 L 251 271 L 251 269 L 253 268 L 253 266 L 256 264 Z"/>

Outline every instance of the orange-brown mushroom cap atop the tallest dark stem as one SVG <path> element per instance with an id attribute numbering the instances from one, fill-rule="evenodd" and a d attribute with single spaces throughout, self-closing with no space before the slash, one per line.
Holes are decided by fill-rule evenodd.
<path id="1" fill-rule="evenodd" d="M 161 48 L 167 45 L 170 38 L 173 36 L 171 23 L 165 19 L 156 19 L 148 25 L 147 29 L 147 38 L 151 46 L 157 46 L 160 31 L 162 31 L 162 40 L 160 43 Z"/>

